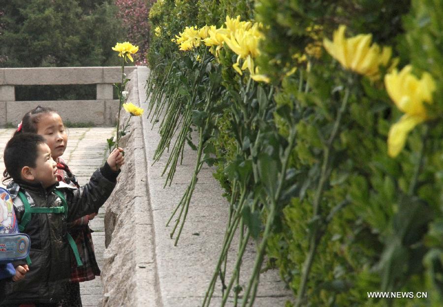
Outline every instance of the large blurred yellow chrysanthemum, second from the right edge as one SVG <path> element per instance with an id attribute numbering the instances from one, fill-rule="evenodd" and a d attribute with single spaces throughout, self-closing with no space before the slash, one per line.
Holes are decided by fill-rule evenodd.
<path id="1" fill-rule="evenodd" d="M 391 48 L 372 44 L 372 34 L 359 34 L 345 38 L 346 26 L 334 31 L 333 41 L 323 40 L 326 51 L 346 69 L 353 70 L 376 81 L 380 79 L 380 65 L 386 66 L 391 58 Z"/>

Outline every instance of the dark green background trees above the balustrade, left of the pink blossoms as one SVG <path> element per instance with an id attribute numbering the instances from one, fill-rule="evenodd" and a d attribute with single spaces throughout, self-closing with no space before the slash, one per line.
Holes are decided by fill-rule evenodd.
<path id="1" fill-rule="evenodd" d="M 116 65 L 124 36 L 110 1 L 2 0 L 1 67 Z"/>

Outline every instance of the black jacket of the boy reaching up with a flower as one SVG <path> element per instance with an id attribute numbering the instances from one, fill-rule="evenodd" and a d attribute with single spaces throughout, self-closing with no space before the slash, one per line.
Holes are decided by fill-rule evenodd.
<path id="1" fill-rule="evenodd" d="M 32 197 L 35 207 L 63 206 L 53 192 L 63 192 L 68 205 L 67 218 L 63 214 L 32 214 L 24 233 L 31 239 L 30 258 L 32 264 L 25 279 L 17 282 L 0 283 L 0 293 L 5 294 L 2 305 L 24 303 L 56 303 L 66 295 L 65 286 L 70 276 L 70 246 L 66 239 L 66 222 L 98 211 L 108 199 L 116 184 L 118 172 L 113 172 L 106 163 L 96 170 L 88 184 L 78 189 L 66 184 L 54 184 L 44 189 L 40 184 L 16 182 L 9 189 L 11 196 L 20 191 Z M 28 196 L 27 195 L 27 196 Z M 20 221 L 23 203 L 19 197 L 13 199 L 14 209 Z M 25 264 L 14 263 L 14 265 Z M 3 294 L 1 293 L 1 294 Z M 1 301 L 1 300 L 0 300 Z"/>

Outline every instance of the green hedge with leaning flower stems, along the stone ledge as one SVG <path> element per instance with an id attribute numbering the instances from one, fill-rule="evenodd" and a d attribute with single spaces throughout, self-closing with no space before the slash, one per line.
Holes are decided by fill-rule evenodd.
<path id="1" fill-rule="evenodd" d="M 161 127 L 156 156 L 172 148 L 166 183 L 183 146 L 197 151 L 194 179 L 174 212 L 178 236 L 206 162 L 216 165 L 230 202 L 227 233 L 238 229 L 241 242 L 256 242 L 257 270 L 264 254 L 266 268 L 279 268 L 294 293 L 288 306 L 440 306 L 442 1 L 231 2 L 163 0 L 150 13 L 158 30 L 149 53 L 149 113 Z M 240 76 L 226 43 L 217 55 L 202 43 L 179 51 L 171 41 L 185 27 L 219 28 L 226 15 L 237 14 L 263 24 L 253 61 L 269 84 L 253 81 L 247 70 Z M 426 121 L 395 157 L 387 138 L 403 112 L 385 88 L 383 75 L 392 67 L 381 68 L 378 80 L 344 69 L 323 48 L 323 38 L 330 40 L 340 25 L 347 26 L 346 37 L 371 33 L 373 42 L 391 47 L 398 70 L 410 64 L 416 78 L 429 73 L 435 81 Z M 163 108 L 169 108 L 164 119 Z M 180 120 L 181 141 L 174 145 Z M 258 271 L 242 284 L 238 270 L 222 269 L 229 244 L 227 236 L 203 306 L 218 276 L 225 297 L 231 291 L 236 301 L 240 294 L 252 304 L 256 295 Z M 428 298 L 370 299 L 372 291 L 427 292 Z"/>

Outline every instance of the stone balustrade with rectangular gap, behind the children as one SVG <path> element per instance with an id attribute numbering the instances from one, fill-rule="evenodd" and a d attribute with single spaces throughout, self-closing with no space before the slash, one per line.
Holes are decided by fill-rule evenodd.
<path id="1" fill-rule="evenodd" d="M 125 67 L 127 75 L 136 67 Z M 57 110 L 71 123 L 115 124 L 118 100 L 112 83 L 121 82 L 121 67 L 0 68 L 0 126 L 17 125 L 37 105 Z M 96 84 L 96 100 L 16 101 L 16 85 Z"/>

